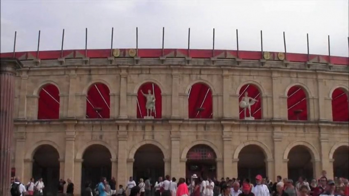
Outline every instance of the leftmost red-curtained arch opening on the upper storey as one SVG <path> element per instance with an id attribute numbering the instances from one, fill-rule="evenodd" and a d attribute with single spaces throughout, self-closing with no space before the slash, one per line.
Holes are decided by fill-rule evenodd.
<path id="1" fill-rule="evenodd" d="M 38 119 L 60 118 L 60 91 L 53 84 L 47 84 L 40 90 Z"/>

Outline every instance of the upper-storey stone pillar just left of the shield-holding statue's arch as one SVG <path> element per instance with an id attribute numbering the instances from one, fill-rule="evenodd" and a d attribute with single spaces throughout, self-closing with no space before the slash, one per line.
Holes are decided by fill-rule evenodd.
<path id="1" fill-rule="evenodd" d="M 234 110 L 231 108 L 230 103 L 230 89 L 231 82 L 228 70 L 223 70 L 223 118 L 231 118 L 230 111 Z M 239 111 L 239 110 L 238 110 Z"/>

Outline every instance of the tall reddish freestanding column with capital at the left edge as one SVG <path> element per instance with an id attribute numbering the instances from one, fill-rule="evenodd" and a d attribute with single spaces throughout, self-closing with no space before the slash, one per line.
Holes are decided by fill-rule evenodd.
<path id="1" fill-rule="evenodd" d="M 0 58 L 0 195 L 10 192 L 15 76 L 21 67 L 16 58 Z"/>

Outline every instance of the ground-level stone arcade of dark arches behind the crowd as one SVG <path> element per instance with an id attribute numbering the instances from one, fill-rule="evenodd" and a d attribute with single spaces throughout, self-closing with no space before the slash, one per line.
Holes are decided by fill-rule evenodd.
<path id="1" fill-rule="evenodd" d="M 125 123 L 125 122 L 124 122 Z M 283 122 L 16 122 L 13 167 L 25 179 L 43 177 L 46 191 L 71 178 L 76 192 L 100 176 L 125 184 L 169 174 L 296 179 L 349 177 L 347 125 Z M 117 127 L 114 130 L 113 127 Z M 223 129 L 222 129 L 223 127 Z M 65 129 L 65 131 L 60 131 Z M 49 185 L 50 184 L 50 185 Z"/>

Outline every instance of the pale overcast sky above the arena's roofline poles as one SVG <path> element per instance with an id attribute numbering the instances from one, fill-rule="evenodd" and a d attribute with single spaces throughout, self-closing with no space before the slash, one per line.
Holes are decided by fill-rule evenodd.
<path id="1" fill-rule="evenodd" d="M 64 49 L 84 49 L 85 27 L 88 48 L 110 48 L 114 27 L 114 48 L 161 48 L 165 27 L 165 48 L 212 49 L 213 28 L 216 49 L 236 49 L 239 29 L 240 50 L 260 50 L 263 30 L 265 51 L 348 56 L 348 0 L 279 1 L 95 1 L 95 0 L 2 0 L 1 52 L 35 51 L 41 30 L 40 50 L 60 50 L 65 28 Z"/>

